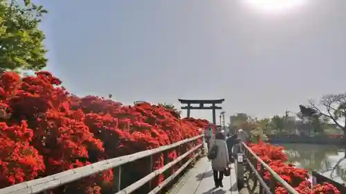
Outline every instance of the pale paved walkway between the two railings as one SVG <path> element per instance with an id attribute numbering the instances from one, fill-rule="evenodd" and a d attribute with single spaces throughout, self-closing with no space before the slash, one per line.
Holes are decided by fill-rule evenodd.
<path id="1" fill-rule="evenodd" d="M 210 161 L 203 157 L 174 186 L 170 194 L 239 194 L 235 168 L 232 166 L 229 177 L 224 177 L 224 188 L 215 188 Z"/>

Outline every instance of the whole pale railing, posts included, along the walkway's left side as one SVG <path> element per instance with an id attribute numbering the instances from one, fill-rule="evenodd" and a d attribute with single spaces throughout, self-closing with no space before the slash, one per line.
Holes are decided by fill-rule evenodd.
<path id="1" fill-rule="evenodd" d="M 194 148 L 188 150 L 183 155 L 180 155 L 174 161 L 170 161 L 170 163 L 165 164 L 162 168 L 158 170 L 152 171 L 153 166 L 153 159 L 152 156 L 167 150 L 172 150 L 174 148 L 180 148 L 179 146 L 185 144 L 185 143 L 192 143 L 193 141 L 196 141 L 197 139 L 203 139 L 199 145 L 194 146 Z M 179 141 L 176 143 L 173 143 L 171 145 L 164 145 L 159 148 L 155 148 L 152 150 L 145 150 L 143 152 L 137 152 L 132 155 L 125 155 L 122 157 L 117 157 L 113 159 L 106 159 L 104 161 L 99 161 L 94 164 L 83 166 L 80 168 L 74 168 L 71 170 L 66 170 L 62 173 L 57 173 L 55 175 L 50 175 L 48 177 L 40 178 L 40 179 L 34 179 L 28 182 L 23 182 L 21 184 L 16 184 L 13 186 L 8 186 L 6 188 L 0 189 L 0 194 L 33 194 L 33 193 L 46 193 L 46 191 L 51 191 L 54 188 L 58 188 L 60 186 L 64 186 L 65 184 L 78 181 L 79 179 L 82 179 L 84 177 L 89 177 L 91 175 L 94 175 L 96 173 L 100 173 L 104 170 L 109 170 L 111 168 L 114 168 L 114 180 L 115 186 L 114 186 L 114 192 L 116 194 L 129 194 L 133 191 L 136 191 L 136 189 L 140 188 L 141 186 L 149 183 L 149 194 L 158 193 L 158 191 L 161 191 L 162 188 L 164 188 L 167 184 L 172 182 L 172 180 L 177 177 L 186 167 L 188 167 L 192 161 L 197 159 L 201 153 L 203 153 L 203 143 L 204 143 L 204 136 L 199 135 L 196 137 L 193 137 L 191 139 L 185 139 L 183 141 Z M 188 157 L 188 155 L 193 155 L 191 159 L 188 159 L 188 161 L 185 162 L 185 164 L 181 164 L 180 168 L 176 170 L 174 173 L 172 173 L 169 177 L 167 177 L 163 182 L 158 184 L 156 188 L 151 189 L 151 180 L 154 179 L 157 175 L 160 175 L 164 173 L 166 170 L 170 169 L 172 166 L 181 163 L 183 159 Z M 150 168 L 151 170 L 149 175 L 146 175 L 142 179 L 138 180 L 137 182 L 134 182 L 133 184 L 127 186 L 126 188 L 121 188 L 120 182 L 121 182 L 121 166 L 124 164 L 128 164 L 132 161 L 136 161 L 138 159 L 143 159 L 145 157 L 150 157 L 150 166 L 147 168 Z M 145 167 L 144 167 L 145 168 Z"/>

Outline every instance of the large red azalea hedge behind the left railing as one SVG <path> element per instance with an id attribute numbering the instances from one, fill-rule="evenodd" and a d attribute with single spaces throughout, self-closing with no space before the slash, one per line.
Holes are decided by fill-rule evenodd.
<path id="1" fill-rule="evenodd" d="M 208 125 L 206 120 L 181 119 L 161 105 L 125 106 L 97 96 L 80 98 L 61 83 L 46 71 L 22 78 L 12 72 L 1 76 L 1 188 L 188 139 Z M 154 155 L 152 168 L 161 168 L 199 143 L 201 139 Z M 144 177 L 148 169 L 148 159 L 125 165 L 122 186 Z M 152 188 L 170 173 L 156 177 Z M 107 193 L 116 181 L 113 170 L 106 170 L 51 193 Z"/>

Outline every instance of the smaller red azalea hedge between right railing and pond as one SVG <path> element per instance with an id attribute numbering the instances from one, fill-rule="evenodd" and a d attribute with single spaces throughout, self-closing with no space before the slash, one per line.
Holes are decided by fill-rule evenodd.
<path id="1" fill-rule="evenodd" d="M 340 191 L 329 183 L 318 184 L 311 188 L 309 182 L 309 173 L 302 168 L 295 168 L 293 164 L 287 163 L 287 156 L 284 154 L 284 148 L 259 141 L 250 143 L 249 148 L 255 152 L 268 166 L 270 166 L 282 179 L 289 183 L 300 194 L 340 194 Z M 260 170 L 260 165 L 257 166 Z M 268 171 L 264 172 L 264 180 L 270 182 L 271 175 Z M 289 194 L 280 184 L 275 188 L 277 194 Z"/>

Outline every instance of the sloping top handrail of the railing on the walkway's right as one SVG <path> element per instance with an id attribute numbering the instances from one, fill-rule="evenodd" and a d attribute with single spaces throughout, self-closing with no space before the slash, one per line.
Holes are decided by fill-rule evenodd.
<path id="1" fill-rule="evenodd" d="M 292 193 L 292 194 L 299 194 L 298 191 L 295 191 L 295 189 L 291 185 L 285 182 L 284 179 L 282 179 L 279 175 L 277 175 L 277 173 L 275 173 L 275 171 L 271 169 L 271 167 L 268 166 L 268 164 L 266 164 L 262 159 L 260 159 L 260 157 L 258 157 L 250 148 L 248 148 L 248 145 L 242 142 L 242 146 L 243 148 L 246 149 L 246 151 L 248 151 L 252 155 L 252 157 L 254 157 L 258 162 L 260 162 L 260 164 L 263 166 L 265 170 L 268 170 L 268 172 L 271 174 L 273 179 L 275 179 L 275 181 L 282 184 L 282 186 L 286 189 L 286 191 L 289 191 L 289 193 Z"/>

